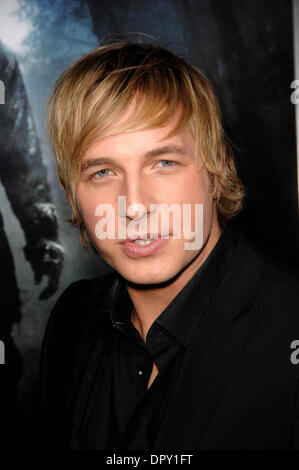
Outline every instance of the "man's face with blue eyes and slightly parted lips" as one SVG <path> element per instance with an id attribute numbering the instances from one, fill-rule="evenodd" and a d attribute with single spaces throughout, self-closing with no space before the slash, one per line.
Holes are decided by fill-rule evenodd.
<path id="1" fill-rule="evenodd" d="M 174 122 L 164 127 L 105 137 L 96 141 L 82 158 L 76 198 L 89 236 L 103 259 L 125 279 L 137 284 L 160 284 L 186 267 L 200 264 L 201 252 L 206 249 L 206 242 L 218 223 L 209 175 L 202 164 L 199 169 L 196 167 L 191 133 L 184 129 L 165 139 Z M 121 213 L 119 196 L 126 197 L 125 210 Z M 140 242 L 124 243 L 124 239 L 118 238 L 118 220 L 127 228 L 130 223 L 132 227 L 133 220 L 141 223 L 139 228 L 143 228 L 137 229 L 138 233 L 146 237 L 151 228 L 151 207 L 159 207 L 151 205 L 162 203 L 168 207 L 176 203 L 181 210 L 179 239 L 174 237 L 175 218 L 171 215 L 169 238 L 162 238 L 165 233 L 161 223 L 157 230 L 159 239 L 148 246 L 141 246 Z M 100 240 L 96 236 L 99 216 L 95 212 L 101 204 L 114 208 L 115 239 Z M 185 249 L 186 242 L 192 240 L 185 238 L 184 204 L 191 205 L 190 228 L 193 231 L 196 230 L 195 204 L 203 205 L 203 244 L 193 250 Z"/>

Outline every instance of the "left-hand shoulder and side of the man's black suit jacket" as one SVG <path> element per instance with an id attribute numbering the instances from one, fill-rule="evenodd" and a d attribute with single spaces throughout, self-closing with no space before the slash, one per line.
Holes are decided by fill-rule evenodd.
<path id="1" fill-rule="evenodd" d="M 111 273 L 72 283 L 60 295 L 50 314 L 39 363 L 42 446 L 64 448 L 67 445 L 66 410 L 78 359 L 81 358 L 80 343 L 84 342 L 90 319 L 95 317 L 92 315 L 94 302 L 101 305 L 115 276 Z M 98 315 L 96 317 L 100 319 Z M 85 356 L 81 359 L 84 360 Z"/>

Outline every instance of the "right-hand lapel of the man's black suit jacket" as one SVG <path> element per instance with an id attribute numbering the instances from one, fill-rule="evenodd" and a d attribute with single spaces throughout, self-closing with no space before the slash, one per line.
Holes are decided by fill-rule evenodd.
<path id="1" fill-rule="evenodd" d="M 186 352 L 154 449 L 190 450 L 200 441 L 260 319 L 255 300 L 262 258 L 242 236 Z"/>

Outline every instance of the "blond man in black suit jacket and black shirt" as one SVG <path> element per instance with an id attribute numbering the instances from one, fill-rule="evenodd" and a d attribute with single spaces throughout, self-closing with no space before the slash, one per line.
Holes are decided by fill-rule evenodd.
<path id="1" fill-rule="evenodd" d="M 49 124 L 72 221 L 115 272 L 52 312 L 45 445 L 298 447 L 298 282 L 229 220 L 244 192 L 207 79 L 163 48 L 106 45 L 60 77 Z"/>

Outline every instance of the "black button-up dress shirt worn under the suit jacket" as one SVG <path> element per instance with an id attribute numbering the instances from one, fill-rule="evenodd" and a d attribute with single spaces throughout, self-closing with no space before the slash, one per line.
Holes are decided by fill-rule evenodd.
<path id="1" fill-rule="evenodd" d="M 225 227 L 199 270 L 151 325 L 146 343 L 131 323 L 133 304 L 125 281 L 117 275 L 101 308 L 111 327 L 89 397 L 80 449 L 152 448 L 186 350 L 237 240 L 238 232 Z M 147 388 L 153 362 L 158 375 Z"/>

